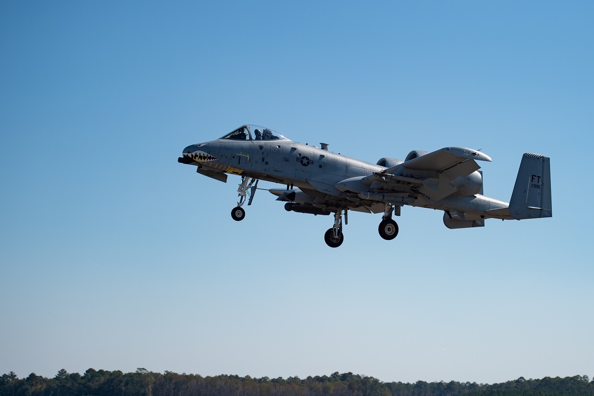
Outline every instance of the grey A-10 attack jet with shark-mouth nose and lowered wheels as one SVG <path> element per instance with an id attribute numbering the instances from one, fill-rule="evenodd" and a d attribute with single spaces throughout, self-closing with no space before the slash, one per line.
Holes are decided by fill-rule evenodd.
<path id="1" fill-rule="evenodd" d="M 220 139 L 192 144 L 178 162 L 197 166 L 197 172 L 222 182 L 227 174 L 241 176 L 233 220 L 245 217 L 258 180 L 286 185 L 269 189 L 285 209 L 299 213 L 334 214 L 324 240 L 331 248 L 343 242 L 343 214 L 348 211 L 383 213 L 379 232 L 394 239 L 404 205 L 444 211 L 449 229 L 484 227 L 486 218 L 523 220 L 552 216 L 549 158 L 525 153 L 510 203 L 482 195 L 482 173 L 476 161 L 491 161 L 478 150 L 445 147 L 428 153 L 410 151 L 404 161 L 382 158 L 377 164 L 290 141 L 257 125 L 244 125 Z"/>

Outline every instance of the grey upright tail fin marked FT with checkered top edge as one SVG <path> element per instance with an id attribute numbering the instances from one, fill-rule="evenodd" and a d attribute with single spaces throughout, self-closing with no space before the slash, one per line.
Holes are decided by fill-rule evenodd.
<path id="1" fill-rule="evenodd" d="M 552 217 L 549 157 L 533 153 L 524 154 L 511 194 L 510 215 L 516 220 Z"/>

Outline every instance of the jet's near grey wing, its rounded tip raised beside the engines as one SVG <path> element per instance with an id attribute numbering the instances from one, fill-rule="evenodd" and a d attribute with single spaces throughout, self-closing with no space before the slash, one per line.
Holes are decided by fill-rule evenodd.
<path id="1" fill-rule="evenodd" d="M 444 147 L 441 150 L 426 154 L 421 157 L 403 162 L 402 164 L 386 169 L 383 173 L 396 172 L 400 167 L 407 167 L 415 170 L 435 170 L 443 172 L 466 160 L 479 160 L 491 162 L 491 157 L 478 150 L 465 147 Z"/>

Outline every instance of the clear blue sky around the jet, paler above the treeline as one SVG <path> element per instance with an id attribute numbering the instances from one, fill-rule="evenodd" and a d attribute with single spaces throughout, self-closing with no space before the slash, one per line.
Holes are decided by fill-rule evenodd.
<path id="1" fill-rule="evenodd" d="M 594 376 L 594 2 L 0 2 L 0 373 Z M 375 163 L 481 149 L 554 217 L 400 235 L 177 163 L 244 123 Z M 271 183 L 260 183 L 271 188 Z"/>

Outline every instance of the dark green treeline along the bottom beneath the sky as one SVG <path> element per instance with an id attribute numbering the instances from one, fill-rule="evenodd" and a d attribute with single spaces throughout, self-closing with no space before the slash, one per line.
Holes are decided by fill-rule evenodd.
<path id="1" fill-rule="evenodd" d="M 587 376 L 524 379 L 502 384 L 476 382 L 381 382 L 353 373 L 330 376 L 251 378 L 249 375 L 200 376 L 170 371 L 134 373 L 89 369 L 84 375 L 62 369 L 54 378 L 31 373 L 19 379 L 2 375 L 0 396 L 514 396 L 594 395 L 594 380 Z"/>

